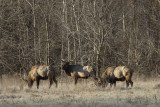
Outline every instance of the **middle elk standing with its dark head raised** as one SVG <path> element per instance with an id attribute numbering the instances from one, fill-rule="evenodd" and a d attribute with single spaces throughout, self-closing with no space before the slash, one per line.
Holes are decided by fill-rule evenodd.
<path id="1" fill-rule="evenodd" d="M 87 79 L 88 77 L 96 78 L 96 71 L 92 66 L 82 66 L 82 65 L 71 65 L 70 62 L 64 62 L 62 69 L 68 76 L 71 76 L 75 80 L 75 85 L 77 84 L 78 78 Z"/>

